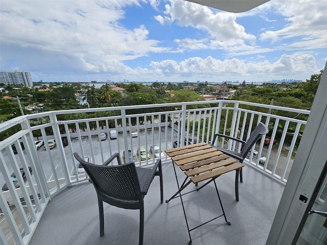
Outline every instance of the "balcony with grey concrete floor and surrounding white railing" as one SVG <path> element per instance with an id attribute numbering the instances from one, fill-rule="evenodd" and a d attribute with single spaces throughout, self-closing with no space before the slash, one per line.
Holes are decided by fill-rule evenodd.
<path id="1" fill-rule="evenodd" d="M 15 118 L 0 125 L 6 133 L 18 130 L 2 141 L 0 192 L 2 241 L 8 244 L 134 244 L 138 241 L 138 212 L 105 205 L 105 236 L 99 236 L 98 204 L 94 187 L 85 174 L 77 174 L 73 153 L 102 164 L 111 154 L 131 150 L 136 165 L 141 161 L 141 145 L 149 151 L 157 144 L 160 150 L 192 142 L 210 143 L 216 132 L 246 139 L 259 121 L 270 129 L 265 139 L 258 141 L 245 160 L 244 183 L 240 184 L 240 202 L 235 201 L 233 173 L 217 179 L 228 221 L 223 218 L 191 232 L 193 244 L 264 244 L 281 199 L 293 156 L 300 140 L 300 130 L 306 125 L 310 111 L 238 101 L 190 102 L 129 107 L 52 111 Z M 296 117 L 294 116 L 296 115 Z M 293 118 L 295 117 L 295 118 Z M 298 119 L 303 118 L 303 119 Z M 109 131 L 115 129 L 116 139 Z M 138 136 L 132 137 L 132 130 Z M 105 140 L 99 140 L 107 133 Z M 64 146 L 62 137 L 67 137 Z M 56 147 L 37 150 L 34 141 L 54 138 Z M 70 140 L 69 140 L 70 139 Z M 186 140 L 185 140 L 186 139 Z M 274 141 L 277 141 L 274 144 Z M 24 145 L 22 149 L 21 144 Z M 230 149 L 238 145 L 227 143 Z M 17 154 L 14 154 L 15 144 Z M 254 151 L 266 157 L 264 164 L 253 158 Z M 128 154 L 126 154 L 128 155 Z M 124 159 L 128 160 L 128 159 Z M 164 195 L 168 199 L 176 190 L 171 160 L 162 157 Z M 10 180 L 13 171 L 31 166 L 33 174 L 26 179 L 17 176 L 20 188 Z M 27 173 L 27 171 L 26 171 Z M 183 179 L 179 173 L 179 179 Z M 67 188 L 70 187 L 70 188 Z M 190 185 L 188 188 L 194 188 Z M 144 244 L 186 244 L 188 231 L 179 199 L 160 205 L 158 181 L 155 179 L 145 198 Z M 221 211 L 213 186 L 185 196 L 185 208 L 190 226 L 204 222 Z M 219 205 L 218 205 L 219 206 Z M 123 228 L 123 229 L 122 229 Z M 128 234 L 128 235 L 127 235 Z M 6 243 L 5 243 L 6 244 Z"/>

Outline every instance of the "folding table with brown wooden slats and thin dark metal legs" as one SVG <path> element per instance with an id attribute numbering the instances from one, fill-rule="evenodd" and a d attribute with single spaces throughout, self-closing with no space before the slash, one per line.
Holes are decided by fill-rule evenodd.
<path id="1" fill-rule="evenodd" d="M 217 149 L 213 148 L 211 145 L 206 143 L 197 143 L 197 144 L 190 144 L 186 146 L 181 146 L 174 149 L 168 149 L 165 151 L 169 157 L 171 157 L 178 191 L 169 199 L 166 200 L 166 203 L 170 202 L 172 199 L 176 198 L 176 196 L 179 194 L 184 216 L 186 220 L 186 226 L 188 227 L 189 236 L 190 236 L 190 242 L 192 243 L 191 234 L 190 232 L 204 224 L 207 224 L 211 222 L 212 220 L 219 218 L 221 216 L 224 216 L 225 221 L 228 225 L 230 225 L 230 222 L 227 222 L 227 218 L 223 209 L 223 205 L 220 199 L 220 195 L 218 192 L 216 179 L 230 171 L 236 170 L 236 177 L 235 177 L 235 195 L 236 200 L 239 201 L 239 172 L 242 167 L 244 167 L 244 164 L 238 162 L 236 159 L 233 159 L 226 154 L 223 154 L 222 152 L 218 151 Z M 175 166 L 178 166 L 186 175 L 185 180 L 179 185 L 177 174 L 176 174 L 176 168 Z M 188 186 L 191 183 L 198 185 L 199 182 L 206 181 L 201 187 L 196 188 L 192 191 L 186 192 L 181 194 L 182 190 L 185 189 L 186 186 Z M 186 218 L 185 208 L 182 200 L 182 195 L 188 194 L 190 192 L 193 192 L 195 190 L 200 190 L 207 184 L 211 182 L 215 183 L 218 199 L 220 202 L 220 206 L 222 208 L 223 214 L 220 216 L 217 216 L 211 220 L 208 220 L 207 222 L 194 227 L 192 229 L 189 228 L 188 219 Z"/>

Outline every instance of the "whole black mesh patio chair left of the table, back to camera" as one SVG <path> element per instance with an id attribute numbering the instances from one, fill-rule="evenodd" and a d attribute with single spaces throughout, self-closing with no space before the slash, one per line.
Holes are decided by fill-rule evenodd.
<path id="1" fill-rule="evenodd" d="M 121 164 L 118 153 L 112 155 L 103 165 L 84 161 L 78 153 L 75 158 L 83 165 L 90 182 L 94 185 L 99 204 L 100 236 L 104 235 L 103 202 L 125 208 L 139 209 L 139 245 L 144 236 L 144 202 L 150 184 L 155 176 L 160 178 L 160 202 L 164 201 L 161 159 L 152 168 L 135 167 L 134 163 Z M 108 166 L 116 159 L 119 165 Z"/>

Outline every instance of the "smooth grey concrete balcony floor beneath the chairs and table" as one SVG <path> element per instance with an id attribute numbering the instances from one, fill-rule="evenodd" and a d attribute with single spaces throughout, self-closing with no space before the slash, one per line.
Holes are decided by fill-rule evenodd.
<path id="1" fill-rule="evenodd" d="M 164 200 L 177 190 L 172 163 L 162 165 Z M 184 174 L 177 169 L 179 183 Z M 160 204 L 159 178 L 155 177 L 145 202 L 144 244 L 188 244 L 189 234 L 180 198 Z M 191 231 L 192 244 L 265 244 L 282 197 L 284 185 L 250 166 L 243 168 L 240 201 L 235 200 L 235 171 L 216 183 L 231 226 L 224 217 Z M 188 190 L 194 189 L 193 184 Z M 190 228 L 222 214 L 214 183 L 183 196 Z M 138 244 L 139 210 L 104 204 L 105 235 L 100 237 L 97 195 L 88 181 L 56 195 L 46 207 L 30 244 Z"/>

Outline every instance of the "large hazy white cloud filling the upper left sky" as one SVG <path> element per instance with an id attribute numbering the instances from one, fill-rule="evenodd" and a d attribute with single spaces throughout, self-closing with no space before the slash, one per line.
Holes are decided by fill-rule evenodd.
<path id="1" fill-rule="evenodd" d="M 60 3 L 60 4 L 59 4 Z M 122 7 L 138 1 L 3 1 L 1 43 L 70 56 L 88 71 L 110 70 L 112 60 L 167 51 L 148 38 L 144 25 L 118 22 Z M 155 2 L 153 2 L 155 4 Z"/>

